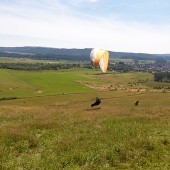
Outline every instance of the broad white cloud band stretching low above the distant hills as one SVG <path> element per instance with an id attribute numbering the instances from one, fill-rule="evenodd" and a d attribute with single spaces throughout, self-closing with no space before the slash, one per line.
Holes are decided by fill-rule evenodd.
<path id="1" fill-rule="evenodd" d="M 57 1 L 48 9 L 44 6 L 43 10 L 30 7 L 17 10 L 10 6 L 2 8 L 0 46 L 91 47 L 112 51 L 170 53 L 168 25 L 152 27 L 113 18 L 82 18 L 81 14 L 77 17 L 74 11 Z"/>

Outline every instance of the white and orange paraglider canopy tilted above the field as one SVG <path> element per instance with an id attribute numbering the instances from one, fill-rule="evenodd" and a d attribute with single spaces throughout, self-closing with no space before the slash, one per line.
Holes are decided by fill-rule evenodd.
<path id="1" fill-rule="evenodd" d="M 109 52 L 101 49 L 93 49 L 90 53 L 90 60 L 94 67 L 100 66 L 100 69 L 106 73 L 109 61 Z"/>

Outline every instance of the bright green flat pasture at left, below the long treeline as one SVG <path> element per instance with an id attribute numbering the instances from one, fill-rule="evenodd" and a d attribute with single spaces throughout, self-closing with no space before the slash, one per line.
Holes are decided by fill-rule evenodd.
<path id="1" fill-rule="evenodd" d="M 79 81 L 90 80 L 81 71 L 0 70 L 1 97 L 28 97 L 93 91 Z"/>

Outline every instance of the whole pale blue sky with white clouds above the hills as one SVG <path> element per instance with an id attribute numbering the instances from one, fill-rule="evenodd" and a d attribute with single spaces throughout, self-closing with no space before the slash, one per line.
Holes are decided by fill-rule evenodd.
<path id="1" fill-rule="evenodd" d="M 170 54 L 170 0 L 0 0 L 0 46 Z"/>

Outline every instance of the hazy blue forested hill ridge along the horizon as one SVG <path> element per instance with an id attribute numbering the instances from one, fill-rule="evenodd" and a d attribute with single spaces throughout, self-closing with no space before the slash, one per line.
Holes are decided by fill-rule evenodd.
<path id="1" fill-rule="evenodd" d="M 0 57 L 49 59 L 49 60 L 89 60 L 91 48 L 66 49 L 47 47 L 0 47 Z M 153 60 L 157 58 L 170 59 L 170 54 L 146 54 L 109 51 L 112 58 Z"/>

